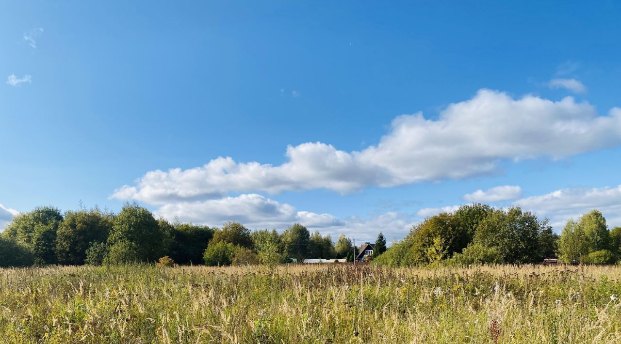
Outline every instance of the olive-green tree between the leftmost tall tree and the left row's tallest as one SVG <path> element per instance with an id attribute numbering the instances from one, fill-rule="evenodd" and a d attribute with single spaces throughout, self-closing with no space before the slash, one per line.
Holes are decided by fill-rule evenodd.
<path id="1" fill-rule="evenodd" d="M 86 250 L 97 242 L 106 242 L 113 218 L 111 213 L 104 213 L 97 208 L 67 211 L 57 231 L 58 263 L 84 264 Z"/>

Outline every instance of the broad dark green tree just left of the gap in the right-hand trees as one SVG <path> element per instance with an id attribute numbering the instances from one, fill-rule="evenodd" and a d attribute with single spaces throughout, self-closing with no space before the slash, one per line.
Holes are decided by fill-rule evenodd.
<path id="1" fill-rule="evenodd" d="M 505 263 L 538 263 L 544 258 L 540 234 L 548 227 L 547 220 L 519 207 L 498 209 L 479 224 L 474 244 L 496 247 Z"/>

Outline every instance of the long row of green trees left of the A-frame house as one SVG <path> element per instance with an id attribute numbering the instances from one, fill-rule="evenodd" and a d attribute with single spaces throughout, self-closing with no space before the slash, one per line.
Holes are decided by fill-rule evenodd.
<path id="1" fill-rule="evenodd" d="M 380 250 L 386 239 L 379 234 Z M 383 249 L 381 248 L 383 247 Z M 79 209 L 64 214 L 51 206 L 20 213 L 0 235 L 0 267 L 29 265 L 102 265 L 130 262 L 242 265 L 298 262 L 305 258 L 347 258 L 351 240 L 341 234 L 336 245 L 319 231 L 293 224 L 250 231 L 230 222 L 220 228 L 155 219 L 148 209 L 127 204 L 118 214 Z M 378 251 L 379 252 L 379 251 Z M 379 253 L 381 253 L 379 252 Z"/>

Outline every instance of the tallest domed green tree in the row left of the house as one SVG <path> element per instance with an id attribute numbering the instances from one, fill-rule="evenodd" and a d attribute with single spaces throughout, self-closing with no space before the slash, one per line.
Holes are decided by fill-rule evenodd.
<path id="1" fill-rule="evenodd" d="M 153 214 L 138 205 L 124 205 L 108 236 L 108 263 L 156 262 L 166 254 L 168 233 Z"/>

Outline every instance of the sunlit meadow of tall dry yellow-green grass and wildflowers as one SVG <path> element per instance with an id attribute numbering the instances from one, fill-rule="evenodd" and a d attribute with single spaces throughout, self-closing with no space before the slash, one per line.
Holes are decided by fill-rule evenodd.
<path id="1" fill-rule="evenodd" d="M 621 342 L 621 267 L 0 270 L 2 343 Z"/>

